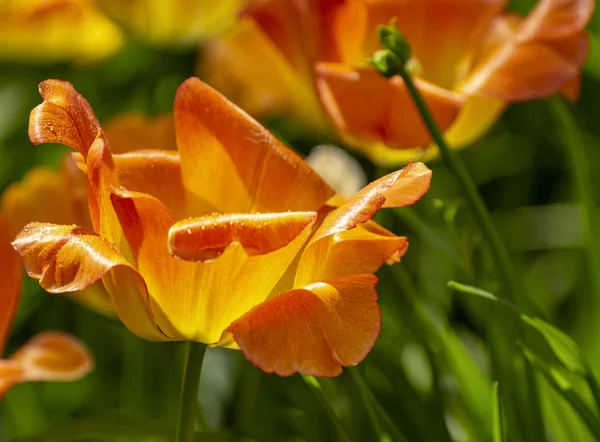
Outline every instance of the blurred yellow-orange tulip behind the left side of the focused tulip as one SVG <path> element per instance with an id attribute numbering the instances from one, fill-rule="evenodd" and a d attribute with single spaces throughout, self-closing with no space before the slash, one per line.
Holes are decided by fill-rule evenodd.
<path id="1" fill-rule="evenodd" d="M 175 150 L 173 118 L 146 118 L 125 114 L 112 118 L 105 129 L 115 152 L 134 148 Z M 36 167 L 19 183 L 9 185 L 0 197 L 0 213 L 18 232 L 32 221 L 92 227 L 84 175 L 67 155 L 59 170 Z M 13 238 L 6 238 L 7 242 Z M 98 313 L 115 316 L 112 301 L 102 284 L 72 294 L 73 300 Z"/>

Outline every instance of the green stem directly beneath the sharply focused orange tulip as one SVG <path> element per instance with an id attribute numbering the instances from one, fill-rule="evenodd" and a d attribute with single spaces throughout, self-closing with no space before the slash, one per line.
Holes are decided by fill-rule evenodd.
<path id="1" fill-rule="evenodd" d="M 194 440 L 194 426 L 198 411 L 198 389 L 200 387 L 200 374 L 206 345 L 198 342 L 188 342 L 183 380 L 181 383 L 181 402 L 179 409 L 179 422 L 177 424 L 176 442 L 192 442 Z"/>

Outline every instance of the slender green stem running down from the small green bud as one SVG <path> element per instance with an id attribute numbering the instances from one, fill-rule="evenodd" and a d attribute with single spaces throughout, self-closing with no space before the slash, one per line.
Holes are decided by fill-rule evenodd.
<path id="1" fill-rule="evenodd" d="M 431 134 L 435 143 L 438 145 L 442 160 L 454 174 L 463 192 L 467 196 L 467 199 L 473 209 L 475 219 L 477 220 L 477 223 L 481 228 L 481 232 L 494 255 L 498 270 L 506 282 L 506 296 L 508 299 L 515 300 L 515 302 L 518 303 L 520 300 L 519 298 L 521 298 L 521 294 L 523 293 L 521 282 L 517 277 L 517 273 L 510 259 L 510 255 L 508 254 L 508 250 L 502 243 L 500 234 L 496 230 L 483 199 L 479 195 L 475 182 L 469 175 L 467 168 L 461 161 L 458 154 L 448 146 L 448 143 L 446 143 L 440 128 L 435 122 L 431 111 L 425 103 L 425 100 L 415 87 L 410 74 L 405 69 L 402 69 L 399 74 L 404 80 L 404 83 L 406 84 L 406 87 L 413 101 L 415 102 L 419 113 L 423 117 L 423 121 L 425 122 L 429 133 Z"/>

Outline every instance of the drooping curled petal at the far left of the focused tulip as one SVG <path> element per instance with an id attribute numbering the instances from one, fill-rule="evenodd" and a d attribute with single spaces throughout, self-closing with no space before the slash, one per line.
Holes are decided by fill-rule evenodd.
<path id="1" fill-rule="evenodd" d="M 31 223 L 13 241 L 27 273 L 50 293 L 83 290 L 104 278 L 115 310 L 134 333 L 165 340 L 152 317 L 144 280 L 114 245 L 78 226 Z"/>

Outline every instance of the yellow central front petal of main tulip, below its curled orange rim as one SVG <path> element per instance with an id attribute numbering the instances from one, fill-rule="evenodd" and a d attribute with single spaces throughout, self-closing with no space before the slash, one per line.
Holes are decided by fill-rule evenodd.
<path id="1" fill-rule="evenodd" d="M 112 201 L 160 328 L 176 339 L 207 344 L 216 344 L 231 322 L 269 296 L 314 224 L 264 255 L 248 256 L 233 241 L 216 259 L 189 262 L 169 254 L 168 233 L 175 218 L 160 201 L 118 190 Z"/>

